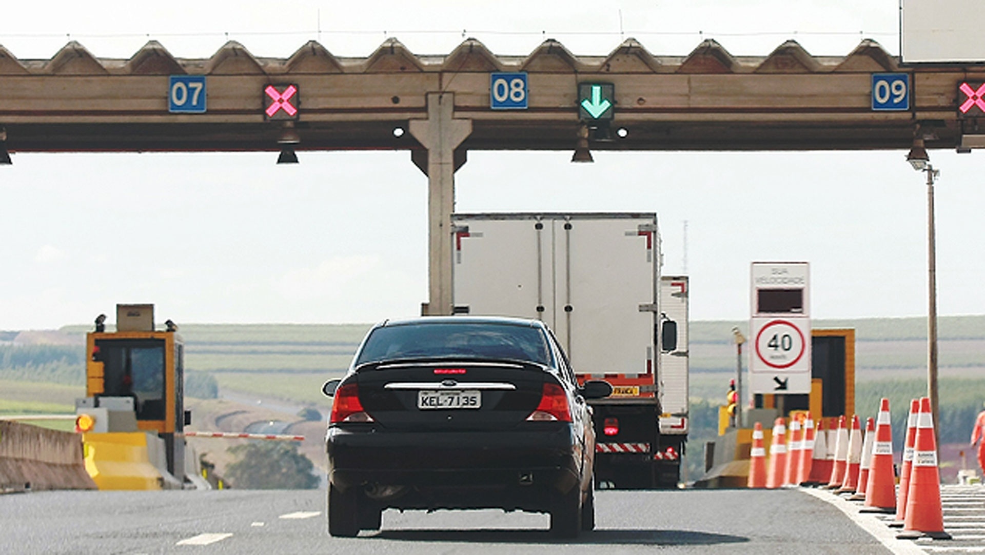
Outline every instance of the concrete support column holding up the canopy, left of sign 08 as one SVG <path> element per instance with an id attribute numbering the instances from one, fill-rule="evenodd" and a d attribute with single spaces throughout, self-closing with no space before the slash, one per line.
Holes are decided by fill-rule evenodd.
<path id="1" fill-rule="evenodd" d="M 427 163 L 423 153 L 411 153 L 427 173 L 427 315 L 452 313 L 451 214 L 455 170 L 465 161 L 464 152 L 456 156 L 455 150 L 472 133 L 472 120 L 455 119 L 454 113 L 454 93 L 428 92 L 427 119 L 410 121 L 411 135 L 427 149 Z"/>

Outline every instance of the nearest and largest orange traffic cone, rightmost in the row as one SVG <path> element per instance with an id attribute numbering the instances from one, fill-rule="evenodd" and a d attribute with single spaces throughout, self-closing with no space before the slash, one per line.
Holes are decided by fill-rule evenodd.
<path id="1" fill-rule="evenodd" d="M 944 508 L 941 505 L 941 471 L 937 467 L 937 441 L 934 438 L 934 416 L 930 399 L 920 400 L 917 416 L 917 437 L 914 441 L 910 491 L 906 496 L 906 518 L 898 539 L 932 537 L 951 539 L 944 531 Z"/>

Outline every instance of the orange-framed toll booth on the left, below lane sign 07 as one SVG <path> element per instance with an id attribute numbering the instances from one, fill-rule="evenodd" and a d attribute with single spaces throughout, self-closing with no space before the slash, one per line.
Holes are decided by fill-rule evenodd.
<path id="1" fill-rule="evenodd" d="M 92 407 L 120 406 L 132 400 L 138 430 L 164 440 L 167 471 L 184 476 L 184 344 L 169 320 L 154 326 L 154 305 L 116 305 L 116 331 L 105 317 L 86 336 L 86 396 Z M 124 403 L 126 406 L 130 402 Z M 110 423 L 111 425 L 111 423 Z M 114 430 L 108 430 L 114 431 Z"/>

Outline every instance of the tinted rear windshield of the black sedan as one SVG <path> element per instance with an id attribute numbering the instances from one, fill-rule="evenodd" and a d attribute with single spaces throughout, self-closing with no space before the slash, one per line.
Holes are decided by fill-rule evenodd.
<path id="1" fill-rule="evenodd" d="M 551 364 L 544 334 L 508 324 L 415 324 L 376 328 L 356 365 L 397 358 L 504 358 Z"/>

